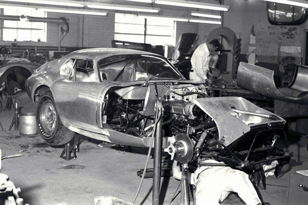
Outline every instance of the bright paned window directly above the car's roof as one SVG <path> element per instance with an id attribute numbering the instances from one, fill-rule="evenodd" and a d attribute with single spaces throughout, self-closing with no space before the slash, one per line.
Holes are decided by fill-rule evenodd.
<path id="1" fill-rule="evenodd" d="M 156 45 L 176 44 L 175 21 L 115 13 L 114 39 Z"/>

